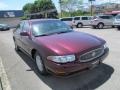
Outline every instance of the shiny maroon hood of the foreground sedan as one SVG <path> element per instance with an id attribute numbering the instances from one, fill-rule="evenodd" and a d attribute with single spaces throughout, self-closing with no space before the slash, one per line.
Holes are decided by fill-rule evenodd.
<path id="1" fill-rule="evenodd" d="M 104 40 L 82 32 L 69 32 L 36 38 L 41 44 L 57 55 L 76 54 L 99 47 Z M 49 51 L 48 51 L 49 52 Z"/>

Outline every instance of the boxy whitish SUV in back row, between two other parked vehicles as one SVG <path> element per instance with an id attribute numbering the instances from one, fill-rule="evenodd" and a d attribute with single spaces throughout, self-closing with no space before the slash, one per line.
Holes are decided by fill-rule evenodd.
<path id="1" fill-rule="evenodd" d="M 82 28 L 83 26 L 89 26 L 92 16 L 76 16 L 73 20 L 73 26 Z"/>

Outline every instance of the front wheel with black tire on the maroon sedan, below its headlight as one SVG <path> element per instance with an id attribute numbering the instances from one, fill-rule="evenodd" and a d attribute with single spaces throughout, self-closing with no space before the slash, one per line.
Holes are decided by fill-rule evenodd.
<path id="1" fill-rule="evenodd" d="M 42 57 L 40 56 L 40 54 L 38 52 L 36 52 L 36 54 L 34 55 L 34 59 L 38 68 L 38 71 L 40 72 L 41 75 L 47 75 L 48 72 L 45 68 L 44 62 L 42 60 Z"/>

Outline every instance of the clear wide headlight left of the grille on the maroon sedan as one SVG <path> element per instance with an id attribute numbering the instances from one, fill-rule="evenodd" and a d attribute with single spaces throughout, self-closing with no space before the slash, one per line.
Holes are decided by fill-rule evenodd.
<path id="1" fill-rule="evenodd" d="M 66 55 L 66 56 L 48 56 L 48 60 L 52 60 L 56 63 L 67 63 L 75 61 L 75 55 Z"/>

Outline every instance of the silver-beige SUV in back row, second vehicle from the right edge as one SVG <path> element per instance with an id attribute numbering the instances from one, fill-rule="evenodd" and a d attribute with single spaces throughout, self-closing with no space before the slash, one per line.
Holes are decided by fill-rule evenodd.
<path id="1" fill-rule="evenodd" d="M 102 29 L 104 26 L 111 26 L 113 25 L 114 17 L 112 15 L 98 15 L 94 16 L 91 20 L 91 26 L 92 28 L 99 28 Z"/>

